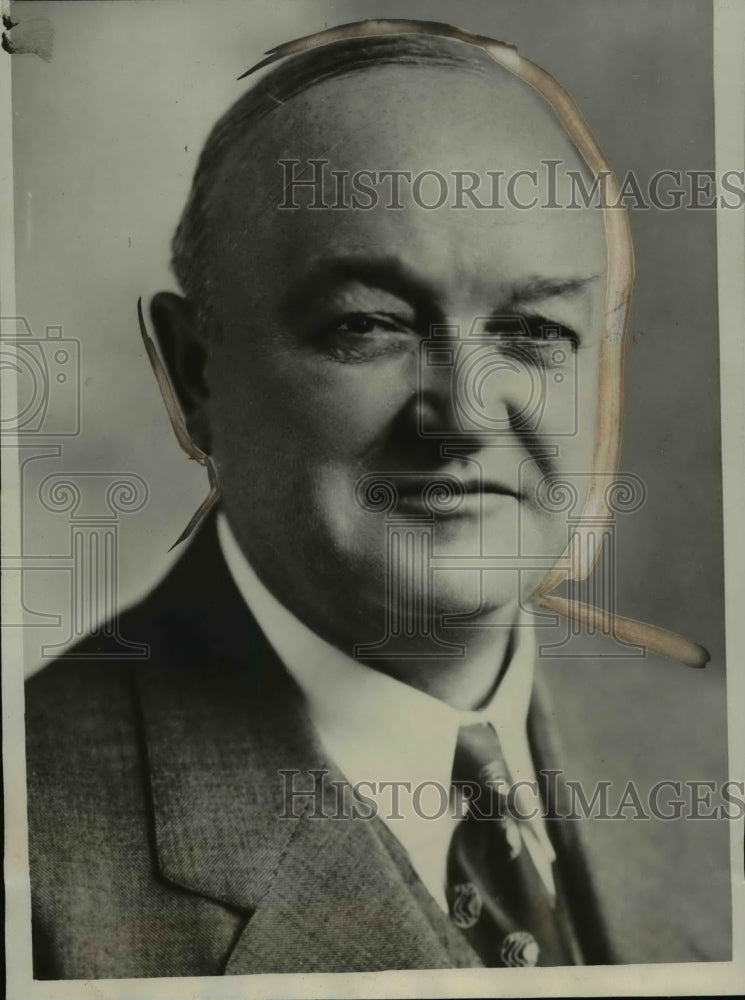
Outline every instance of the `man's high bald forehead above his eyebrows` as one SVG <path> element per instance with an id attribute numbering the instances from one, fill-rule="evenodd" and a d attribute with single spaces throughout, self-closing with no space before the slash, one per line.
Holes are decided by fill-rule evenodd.
<path id="1" fill-rule="evenodd" d="M 232 248 L 231 259 L 221 255 L 230 273 L 257 258 L 297 274 L 329 250 L 385 251 L 465 287 L 511 283 L 536 265 L 551 277 L 584 276 L 605 260 L 602 212 L 541 207 L 550 186 L 566 204 L 567 171 L 585 183 L 589 172 L 543 98 L 496 63 L 493 73 L 386 64 L 324 80 L 233 152 L 212 217 Z M 557 164 L 552 178 L 547 159 Z M 395 171 L 406 176 L 386 176 Z M 532 189 L 520 171 L 536 171 Z M 475 187 L 475 200 L 464 187 Z M 530 210 L 511 203 L 536 196 Z"/>

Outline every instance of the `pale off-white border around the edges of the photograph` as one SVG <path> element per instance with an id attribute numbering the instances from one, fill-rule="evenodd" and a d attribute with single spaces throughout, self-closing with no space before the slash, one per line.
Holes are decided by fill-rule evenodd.
<path id="1" fill-rule="evenodd" d="M 98 0 L 103 2 L 103 0 Z M 706 2 L 706 0 L 704 0 Z M 717 176 L 745 168 L 745 2 L 713 0 L 714 93 Z M 343 13 L 340 11 L 340 18 Z M 13 240 L 11 59 L 0 54 L 0 314 L 16 311 Z M 725 620 L 730 778 L 741 781 L 745 762 L 745 212 L 717 209 L 719 347 L 724 491 Z M 12 389 L 3 407 L 14 412 Z M 2 449 L 3 552 L 18 551 L 20 486 L 12 448 Z M 18 570 L 3 570 L 4 583 Z M 10 594 L 3 588 L 3 618 Z M 495 970 L 391 971 L 178 977 L 130 980 L 36 981 L 32 978 L 31 908 L 26 822 L 22 629 L 2 629 L 3 774 L 7 995 L 11 1000 L 116 997 L 321 998 L 471 997 L 493 995 Z M 737 995 L 745 990 L 745 820 L 731 824 L 733 881 L 732 962 L 504 969 L 500 995 L 663 996 Z"/>

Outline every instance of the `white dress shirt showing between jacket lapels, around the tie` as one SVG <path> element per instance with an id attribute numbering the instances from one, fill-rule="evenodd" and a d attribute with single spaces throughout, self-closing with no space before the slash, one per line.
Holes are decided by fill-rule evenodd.
<path id="1" fill-rule="evenodd" d="M 459 728 L 490 722 L 499 736 L 513 781 L 535 781 L 526 727 L 535 657 L 533 629 L 528 625 L 516 630 L 515 652 L 489 704 L 475 712 L 454 709 L 321 639 L 259 580 L 222 511 L 217 518 L 217 532 L 233 580 L 303 692 L 321 743 L 350 785 L 354 788 L 361 783 L 364 796 L 376 801 L 378 815 L 406 850 L 433 898 L 447 912 L 446 860 L 458 820 L 452 802 L 443 808 L 438 789 L 450 789 Z M 380 785 L 398 781 L 407 785 L 399 788 L 398 809 L 394 810 L 390 786 L 381 790 Z M 417 788 L 418 796 L 414 794 Z M 553 892 L 554 852 L 539 815 L 539 799 L 527 787 L 522 791 L 517 802 L 522 802 L 523 814 L 536 812 L 534 818 L 520 823 L 523 841 Z M 398 813 L 400 818 L 391 813 Z"/>

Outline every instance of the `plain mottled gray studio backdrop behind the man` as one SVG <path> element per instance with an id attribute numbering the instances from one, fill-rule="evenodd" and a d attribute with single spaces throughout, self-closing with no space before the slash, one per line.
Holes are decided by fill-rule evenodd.
<path id="1" fill-rule="evenodd" d="M 81 344 L 81 433 L 24 482 L 24 551 L 62 553 L 42 474 L 135 472 L 148 504 L 121 520 L 120 597 L 163 574 L 206 493 L 179 451 L 140 342 L 136 301 L 175 287 L 168 241 L 201 143 L 236 77 L 290 38 L 365 17 L 449 21 L 515 43 L 573 94 L 617 175 L 714 168 L 705 0 L 251 0 L 18 3 L 48 18 L 50 62 L 13 60 L 17 311 Z M 637 281 L 622 468 L 647 485 L 620 525 L 617 610 L 690 635 L 721 679 L 723 584 L 713 211 L 632 211 Z M 42 468 L 43 467 L 43 468 Z M 26 604 L 63 613 L 64 573 L 29 573 Z M 29 628 L 29 665 L 66 628 Z M 136 638 L 136 637 L 135 637 Z M 681 675 L 682 677 L 682 675 Z"/>

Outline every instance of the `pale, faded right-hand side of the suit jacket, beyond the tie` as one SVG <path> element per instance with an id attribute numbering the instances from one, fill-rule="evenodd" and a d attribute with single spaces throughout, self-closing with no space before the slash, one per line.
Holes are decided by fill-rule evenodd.
<path id="1" fill-rule="evenodd" d="M 728 830 L 723 820 L 660 819 L 654 788 L 691 775 L 723 780 L 726 759 L 710 734 L 725 703 L 715 679 L 651 656 L 611 659 L 612 648 L 579 637 L 571 664 L 538 669 L 531 709 L 536 768 L 559 771 L 549 811 L 582 812 L 568 782 L 589 800 L 607 784 L 606 814 L 549 820 L 560 873 L 591 963 L 722 961 L 731 956 Z M 610 646 L 610 644 L 608 644 Z M 602 653 L 606 653 L 606 658 Z M 617 652 L 616 652 L 617 655 Z M 640 711 L 640 698 L 645 699 Z M 696 725 L 682 725 L 696 706 Z M 655 712 L 654 719 L 650 713 Z M 559 742 L 560 737 L 560 742 Z M 633 782 L 632 799 L 619 812 Z M 662 789 L 670 812 L 676 797 Z M 684 792 L 685 795 L 685 792 Z"/>

